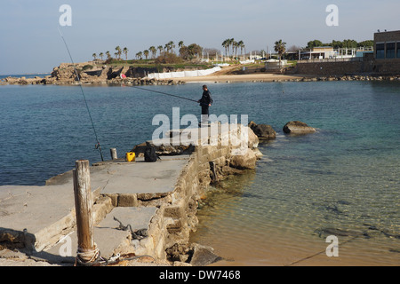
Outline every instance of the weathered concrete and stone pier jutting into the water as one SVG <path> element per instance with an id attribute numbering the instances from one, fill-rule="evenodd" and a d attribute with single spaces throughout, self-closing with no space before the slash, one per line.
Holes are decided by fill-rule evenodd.
<path id="1" fill-rule="evenodd" d="M 231 134 L 245 147 L 234 145 Z M 196 231 L 197 201 L 212 180 L 255 167 L 258 138 L 248 127 L 220 130 L 213 138 L 217 143 L 202 137 L 186 154 L 161 155 L 157 162 L 138 157 L 91 166 L 93 240 L 101 256 L 145 256 L 139 265 L 172 265 L 168 248 L 187 244 Z M 156 147 L 159 153 L 165 144 Z M 121 224 L 146 234 L 137 237 Z M 76 246 L 72 170 L 44 186 L 0 186 L 0 265 L 72 265 Z"/>

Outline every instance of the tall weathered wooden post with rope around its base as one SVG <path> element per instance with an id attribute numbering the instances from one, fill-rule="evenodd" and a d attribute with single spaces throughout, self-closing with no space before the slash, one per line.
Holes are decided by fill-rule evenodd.
<path id="1" fill-rule="evenodd" d="M 78 239 L 77 258 L 82 263 L 90 263 L 97 258 L 98 251 L 92 238 L 92 190 L 89 161 L 79 160 L 75 165 L 73 176 Z"/>

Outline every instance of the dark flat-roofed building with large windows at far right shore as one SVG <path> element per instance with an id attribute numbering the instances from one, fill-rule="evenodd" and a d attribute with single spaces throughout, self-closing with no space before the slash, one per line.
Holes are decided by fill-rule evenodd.
<path id="1" fill-rule="evenodd" d="M 375 59 L 400 59 L 400 30 L 373 35 Z"/>

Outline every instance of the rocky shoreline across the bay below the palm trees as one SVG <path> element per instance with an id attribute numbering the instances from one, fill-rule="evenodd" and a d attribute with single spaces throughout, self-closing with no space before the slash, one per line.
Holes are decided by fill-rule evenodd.
<path id="1" fill-rule="evenodd" d="M 100 85 L 177 85 L 184 84 L 188 81 L 186 78 L 156 80 L 148 79 L 149 73 L 158 72 L 155 67 L 132 67 L 132 66 L 108 66 L 101 65 L 89 61 L 78 63 L 74 67 L 72 64 L 61 63 L 59 67 L 54 67 L 51 75 L 44 77 L 36 76 L 34 78 L 27 77 L 12 77 L 8 76 L 0 80 L 0 85 L 36 85 L 36 84 L 55 84 L 55 85 L 76 85 L 82 84 L 100 84 Z M 172 71 L 170 68 L 164 68 L 163 72 Z M 79 75 L 76 76 L 76 72 Z M 319 81 L 400 81 L 400 75 L 377 75 L 377 74 L 359 74 L 359 75 L 297 75 L 294 78 L 288 78 L 282 75 L 278 78 L 270 78 L 264 80 L 263 78 L 246 77 L 246 75 L 227 75 L 227 80 L 224 82 L 230 83 L 229 77 L 232 80 L 237 76 L 243 78 L 244 82 L 319 82 Z M 202 80 L 210 76 L 202 77 Z M 212 77 L 213 78 L 213 77 Z M 198 78 L 196 78 L 197 80 Z M 235 81 L 235 80 L 234 80 Z M 234 82 L 232 81 L 232 82 Z"/>

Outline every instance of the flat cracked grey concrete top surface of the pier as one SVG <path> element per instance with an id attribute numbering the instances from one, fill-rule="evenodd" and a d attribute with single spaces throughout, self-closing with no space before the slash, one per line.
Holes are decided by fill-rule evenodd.
<path id="1" fill-rule="evenodd" d="M 93 217 L 96 214 L 107 215 L 93 230 L 93 239 L 100 248 L 101 256 L 109 258 L 129 239 L 130 232 L 118 230 L 119 223 L 114 217 L 124 225 L 131 225 L 132 230 L 148 229 L 157 207 L 140 206 L 138 196 L 156 200 L 172 193 L 180 171 L 187 163 L 188 155 L 183 155 L 164 156 L 158 162 L 144 162 L 143 158 L 137 158 L 136 162 L 116 160 L 91 167 L 93 197 L 111 196 L 93 214 Z M 72 170 L 52 177 L 47 184 L 0 186 L 0 233 L 9 235 L 16 242 L 15 247 L 30 246 L 36 260 L 71 264 L 76 256 L 77 244 Z M 113 197 L 116 206 L 112 204 Z M 118 201 L 131 201 L 132 204 L 118 207 Z M 66 236 L 70 239 L 62 240 Z M 67 248 L 67 240 L 70 241 L 70 248 Z M 7 254 L 10 255 L 10 252 Z M 6 255 L 2 255 L 0 250 L 0 265 L 5 265 L 2 256 Z M 7 263 L 12 264 L 10 261 Z M 23 265 L 21 262 L 14 263 Z"/>

